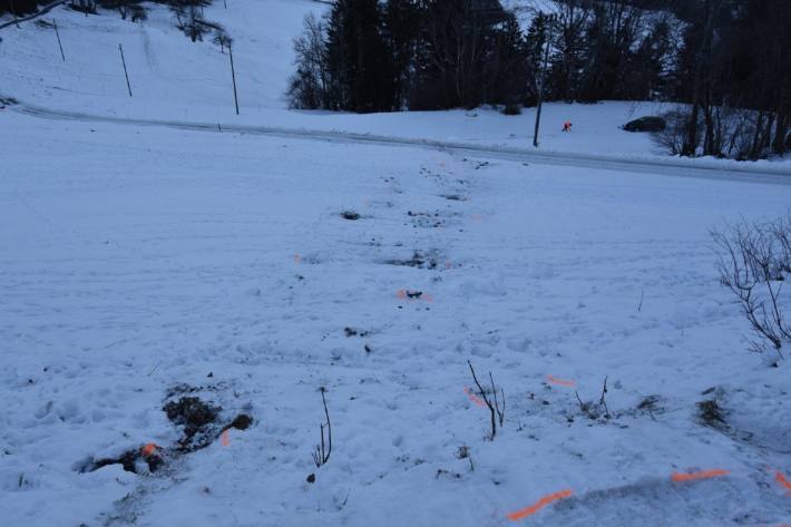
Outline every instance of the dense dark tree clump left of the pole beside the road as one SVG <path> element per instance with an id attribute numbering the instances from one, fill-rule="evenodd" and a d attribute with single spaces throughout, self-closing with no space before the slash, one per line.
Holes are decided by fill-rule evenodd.
<path id="1" fill-rule="evenodd" d="M 390 111 L 527 99 L 527 41 L 497 1 L 339 0 L 305 28 L 295 41 L 295 107 Z"/>

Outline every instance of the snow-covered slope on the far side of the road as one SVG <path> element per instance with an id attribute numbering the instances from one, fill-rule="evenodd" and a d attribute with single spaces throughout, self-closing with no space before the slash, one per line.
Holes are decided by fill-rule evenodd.
<path id="1" fill-rule="evenodd" d="M 66 62 L 60 60 L 51 28 L 28 22 L 20 30 L 3 30 L 0 97 L 101 116 L 343 130 L 531 148 L 534 109 L 517 117 L 489 109 L 364 116 L 286 110 L 283 94 L 293 70 L 292 39 L 301 31 L 305 14 L 320 14 L 325 9 L 325 4 L 311 0 L 235 0 L 227 10 L 222 2 L 206 8 L 205 18 L 221 23 L 235 40 L 241 116 L 234 111 L 227 53 L 209 38 L 189 41 L 174 28 L 173 14 L 163 7 L 152 8 L 145 23 L 124 21 L 114 12 L 86 18 L 55 9 L 47 20 L 58 21 Z M 131 98 L 119 43 L 129 69 Z M 541 150 L 665 157 L 647 135 L 629 134 L 619 127 L 635 117 L 666 109 L 629 103 L 546 105 Z M 573 134 L 561 134 L 566 120 L 574 123 Z"/>

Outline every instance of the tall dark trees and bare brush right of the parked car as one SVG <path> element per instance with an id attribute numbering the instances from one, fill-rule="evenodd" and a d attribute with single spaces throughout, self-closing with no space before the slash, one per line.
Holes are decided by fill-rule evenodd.
<path id="1" fill-rule="evenodd" d="M 791 2 L 685 0 L 674 75 L 687 103 L 664 139 L 676 154 L 739 159 L 791 147 Z"/>

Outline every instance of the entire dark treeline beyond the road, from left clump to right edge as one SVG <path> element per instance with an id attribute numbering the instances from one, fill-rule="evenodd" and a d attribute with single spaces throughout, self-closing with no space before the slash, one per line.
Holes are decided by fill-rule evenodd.
<path id="1" fill-rule="evenodd" d="M 555 0 L 526 29 L 518 14 L 497 0 L 336 0 L 295 40 L 291 104 L 518 113 L 545 79 L 545 100 L 682 103 L 660 137 L 675 154 L 791 146 L 789 0 Z"/>

